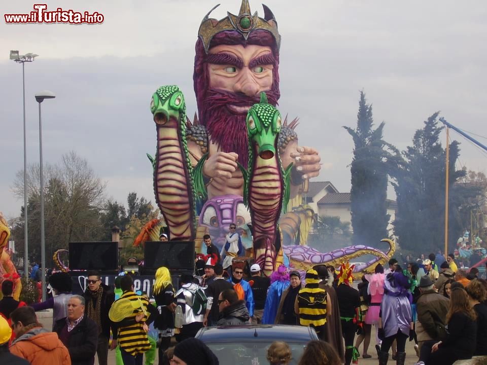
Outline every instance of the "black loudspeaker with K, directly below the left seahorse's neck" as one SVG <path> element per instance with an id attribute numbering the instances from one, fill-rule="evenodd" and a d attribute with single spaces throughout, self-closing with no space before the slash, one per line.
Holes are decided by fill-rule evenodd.
<path id="1" fill-rule="evenodd" d="M 193 271 L 194 242 L 150 241 L 144 246 L 144 269 L 157 270 L 165 266 L 169 270 Z"/>

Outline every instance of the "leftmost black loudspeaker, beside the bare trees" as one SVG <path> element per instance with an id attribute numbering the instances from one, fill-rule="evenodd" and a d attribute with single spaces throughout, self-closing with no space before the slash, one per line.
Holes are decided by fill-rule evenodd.
<path id="1" fill-rule="evenodd" d="M 69 270 L 118 270 L 118 242 L 69 242 Z"/>

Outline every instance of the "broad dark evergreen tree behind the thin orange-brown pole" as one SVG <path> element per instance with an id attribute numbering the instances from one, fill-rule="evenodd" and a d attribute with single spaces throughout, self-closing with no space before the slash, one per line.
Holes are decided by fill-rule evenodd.
<path id="1" fill-rule="evenodd" d="M 398 210 L 394 221 L 394 233 L 399 243 L 416 252 L 437 252 L 444 242 L 445 212 L 445 150 L 439 141 L 443 127 L 438 126 L 439 112 L 416 130 L 412 146 L 404 151 L 404 163 L 400 166 L 393 183 Z M 459 143 L 449 145 L 449 230 L 448 241 L 456 242 L 461 234 L 458 222 L 459 207 L 470 194 L 456 185 L 465 171 L 457 170 L 455 164 L 460 154 Z"/>

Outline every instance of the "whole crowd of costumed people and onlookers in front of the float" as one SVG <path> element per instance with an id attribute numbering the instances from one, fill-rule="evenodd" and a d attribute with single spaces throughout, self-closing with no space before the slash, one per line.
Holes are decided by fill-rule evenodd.
<path id="1" fill-rule="evenodd" d="M 150 297 L 135 293 L 131 274 L 118 276 L 112 288 L 97 271 L 87 273 L 84 294 L 73 295 L 71 277 L 58 272 L 49 276 L 53 297 L 27 306 L 13 299 L 13 281 L 4 280 L 0 363 L 5 358 L 13 364 L 93 365 L 97 356 L 106 365 L 109 350 L 115 350 L 117 365 L 142 365 L 144 357 L 145 364 L 153 364 L 156 352 L 160 365 L 218 364 L 210 348 L 195 339 L 197 332 L 250 324 L 313 327 L 319 341 L 306 345 L 303 365 L 350 365 L 372 357 L 372 326 L 379 365 L 388 363 L 391 350 L 403 365 L 408 339 L 414 341 L 417 365 L 487 355 L 487 281 L 477 278 L 478 270 L 458 269 L 450 256 L 439 267 L 432 254 L 421 263 L 404 263 L 404 269 L 393 258 L 358 285 L 348 263 L 306 272 L 282 265 L 267 278 L 258 264 L 237 256 L 235 235 L 229 234 L 233 240 L 221 251 L 205 236 L 207 254 L 198 255 L 195 272 L 180 275 L 177 285 L 168 268 L 159 268 Z M 48 308 L 52 329 L 36 316 Z M 270 364 L 292 358 L 284 342 L 268 348 Z"/>

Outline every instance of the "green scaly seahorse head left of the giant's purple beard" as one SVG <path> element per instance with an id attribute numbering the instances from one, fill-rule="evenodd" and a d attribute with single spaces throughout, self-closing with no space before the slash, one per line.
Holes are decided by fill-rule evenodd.
<path id="1" fill-rule="evenodd" d="M 176 85 L 161 86 L 152 95 L 151 113 L 154 116 L 154 122 L 158 125 L 164 125 L 169 118 L 180 119 L 181 113 L 185 113 L 186 106 L 184 96 Z"/>

